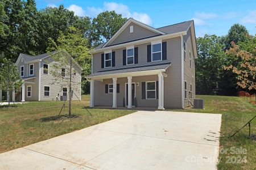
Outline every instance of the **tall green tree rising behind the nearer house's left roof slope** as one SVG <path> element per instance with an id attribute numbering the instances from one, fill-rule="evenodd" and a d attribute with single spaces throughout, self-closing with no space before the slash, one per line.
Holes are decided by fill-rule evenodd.
<path id="1" fill-rule="evenodd" d="M 108 41 L 126 20 L 127 18 L 122 18 L 122 15 L 115 11 L 101 12 L 92 20 L 92 28 L 89 33 L 90 44 L 98 46 Z"/>

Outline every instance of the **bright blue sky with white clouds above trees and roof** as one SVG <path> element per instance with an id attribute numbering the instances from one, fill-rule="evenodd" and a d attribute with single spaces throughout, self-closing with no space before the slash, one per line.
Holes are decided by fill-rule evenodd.
<path id="1" fill-rule="evenodd" d="M 36 0 L 38 9 L 59 6 L 72 10 L 79 16 L 97 16 L 105 10 L 115 10 L 127 18 L 134 18 L 158 28 L 193 19 L 196 36 L 205 33 L 226 35 L 234 23 L 246 26 L 251 35 L 256 34 L 256 1 L 79 1 Z"/>

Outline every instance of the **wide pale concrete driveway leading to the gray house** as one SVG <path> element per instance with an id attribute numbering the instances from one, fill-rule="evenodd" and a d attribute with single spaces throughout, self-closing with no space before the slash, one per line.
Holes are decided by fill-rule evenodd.
<path id="1" fill-rule="evenodd" d="M 138 111 L 0 154 L 0 169 L 216 169 L 221 114 Z"/>

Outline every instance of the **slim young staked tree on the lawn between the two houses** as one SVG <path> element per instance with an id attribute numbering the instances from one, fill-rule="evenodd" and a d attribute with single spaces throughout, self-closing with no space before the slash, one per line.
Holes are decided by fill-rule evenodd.
<path id="1" fill-rule="evenodd" d="M 57 50 L 58 53 L 52 55 L 55 61 L 58 61 L 55 65 L 52 74 L 56 78 L 56 82 L 58 79 L 62 77 L 60 71 L 61 68 L 67 68 L 67 73 L 69 75 L 69 79 L 64 79 L 63 86 L 69 87 L 69 116 L 71 116 L 71 91 L 72 86 L 75 81 L 72 81 L 72 73 L 75 71 L 72 69 L 74 63 L 78 63 L 83 70 L 83 73 L 86 75 L 90 74 L 90 50 L 88 48 L 88 40 L 84 38 L 84 36 L 74 27 L 70 27 L 67 35 L 60 32 L 60 36 L 57 41 L 53 41 L 49 39 L 49 47 L 47 48 L 48 52 L 52 50 Z M 73 58 L 73 59 L 72 59 Z M 82 79 L 82 82 L 86 81 L 86 79 Z M 80 85 L 81 86 L 81 85 Z"/>

